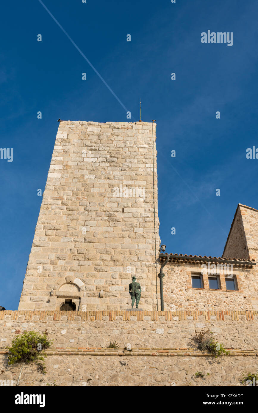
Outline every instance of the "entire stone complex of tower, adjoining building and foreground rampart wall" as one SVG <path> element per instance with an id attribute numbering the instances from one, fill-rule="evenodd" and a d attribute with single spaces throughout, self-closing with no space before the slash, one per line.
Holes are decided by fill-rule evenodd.
<path id="1" fill-rule="evenodd" d="M 258 210 L 238 205 L 221 257 L 160 252 L 155 129 L 60 122 L 19 309 L 0 311 L 1 380 L 17 382 L 7 346 L 25 330 L 54 344 L 45 379 L 29 365 L 21 385 L 234 386 L 258 370 Z M 211 363 L 202 329 L 229 356 Z"/>

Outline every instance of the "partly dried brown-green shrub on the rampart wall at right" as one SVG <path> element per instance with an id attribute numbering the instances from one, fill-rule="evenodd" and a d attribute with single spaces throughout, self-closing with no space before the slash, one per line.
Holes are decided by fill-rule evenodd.
<path id="1" fill-rule="evenodd" d="M 216 358 L 222 354 L 229 355 L 229 351 L 226 351 L 224 344 L 215 342 L 214 334 L 209 329 L 207 331 L 201 330 L 198 334 L 195 331 L 195 337 L 192 340 L 196 342 L 199 350 L 207 351 Z"/>

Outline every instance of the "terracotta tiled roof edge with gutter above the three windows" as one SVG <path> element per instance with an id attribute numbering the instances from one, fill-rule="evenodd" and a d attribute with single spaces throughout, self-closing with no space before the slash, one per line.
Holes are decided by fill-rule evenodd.
<path id="1" fill-rule="evenodd" d="M 256 262 L 254 259 L 247 260 L 244 258 L 226 258 L 226 257 L 212 257 L 212 256 L 202 256 L 202 255 L 183 255 L 183 254 L 159 254 L 160 261 L 164 262 L 167 257 L 168 262 L 195 262 L 195 263 L 200 263 L 200 262 L 221 262 L 221 263 L 235 263 L 237 265 L 247 265 L 247 266 L 253 266 L 256 265 Z"/>

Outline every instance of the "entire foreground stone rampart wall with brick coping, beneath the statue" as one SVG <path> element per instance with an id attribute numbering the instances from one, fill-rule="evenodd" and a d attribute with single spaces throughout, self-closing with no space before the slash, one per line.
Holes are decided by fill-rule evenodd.
<path id="1" fill-rule="evenodd" d="M 19 385 L 234 386 L 258 369 L 258 311 L 2 311 L 0 317 L 2 383 L 17 383 L 21 366 L 7 365 L 6 347 L 25 330 L 46 331 L 54 342 L 47 374 L 29 364 Z M 195 330 L 208 328 L 229 356 L 196 350 Z M 119 349 L 108 349 L 110 341 Z M 132 351 L 124 349 L 128 344 Z M 196 378 L 197 371 L 205 377 Z"/>

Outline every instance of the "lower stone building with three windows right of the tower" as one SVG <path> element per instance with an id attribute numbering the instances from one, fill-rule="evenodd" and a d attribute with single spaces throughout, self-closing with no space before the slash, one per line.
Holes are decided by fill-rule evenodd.
<path id="1" fill-rule="evenodd" d="M 160 254 L 164 309 L 258 310 L 258 211 L 239 204 L 222 257 Z"/>

